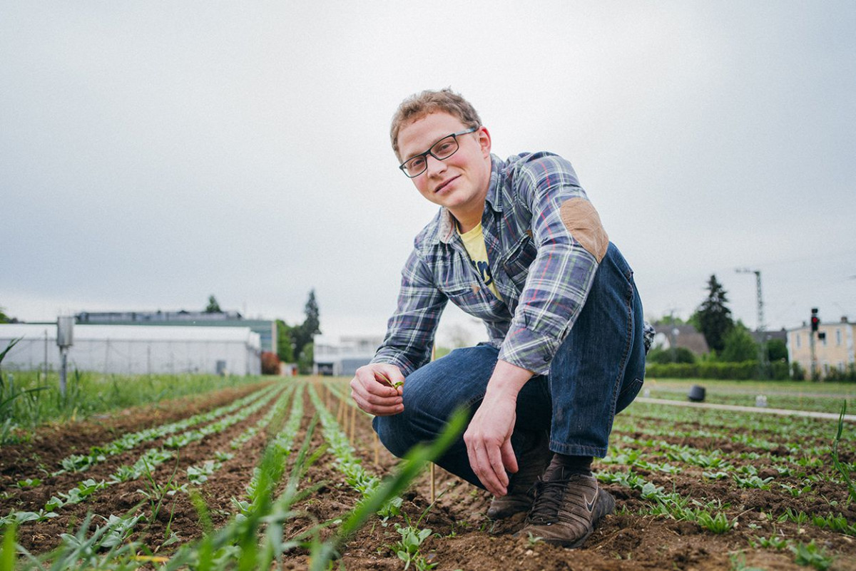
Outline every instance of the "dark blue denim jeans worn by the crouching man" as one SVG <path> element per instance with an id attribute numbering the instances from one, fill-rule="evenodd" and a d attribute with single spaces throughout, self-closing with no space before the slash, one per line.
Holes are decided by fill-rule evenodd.
<path id="1" fill-rule="evenodd" d="M 597 268 L 586 304 L 550 363 L 517 397 L 511 444 L 520 458 L 537 431 L 550 431 L 550 450 L 606 456 L 615 414 L 633 402 L 645 378 L 644 321 L 633 270 L 613 244 Z M 453 350 L 407 376 L 404 412 L 372 422 L 383 445 L 404 456 L 435 439 L 457 407 L 479 408 L 499 351 L 490 344 Z M 476 486 L 463 436 L 436 463 Z"/>

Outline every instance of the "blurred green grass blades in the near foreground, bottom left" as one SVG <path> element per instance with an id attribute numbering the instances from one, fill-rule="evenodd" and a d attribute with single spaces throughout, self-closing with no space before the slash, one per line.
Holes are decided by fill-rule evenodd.
<path id="1" fill-rule="evenodd" d="M 259 480 L 253 493 L 252 507 L 236 515 L 226 527 L 211 529 L 207 508 L 199 495 L 195 494 L 193 502 L 199 510 L 200 521 L 208 522 L 205 526 L 208 531 L 202 539 L 183 545 L 173 556 L 156 556 L 139 543 L 116 541 L 116 529 L 122 528 L 122 520 L 131 517 L 134 511 L 132 509 L 123 518 L 116 518 L 110 525 L 98 527 L 92 533 L 88 533 L 92 522 L 92 515 L 88 515 L 77 533 L 63 534 L 60 547 L 46 556 L 39 557 L 29 554 L 20 545 L 15 544 L 15 527 L 12 525 L 5 530 L 4 538 L 0 541 L 0 571 L 14 571 L 15 556 L 19 557 L 18 568 L 21 571 L 67 571 L 78 568 L 130 571 L 144 567 L 154 567 L 160 571 L 175 571 L 181 568 L 192 568 L 194 571 L 251 571 L 270 569 L 275 563 L 282 562 L 282 556 L 295 549 L 308 552 L 309 568 L 312 571 L 328 569 L 331 562 L 340 556 L 340 550 L 348 539 L 385 503 L 401 494 L 428 462 L 440 456 L 455 441 L 467 423 L 467 415 L 463 410 L 457 411 L 435 442 L 410 450 L 391 476 L 384 479 L 372 494 L 341 518 L 319 522 L 297 536 L 284 537 L 283 529 L 288 521 L 305 515 L 294 509 L 294 505 L 326 483 L 314 482 L 311 486 L 300 489 L 300 482 L 306 471 L 324 451 L 310 450 L 316 422 L 317 418 L 307 429 L 306 438 L 295 456 L 284 490 L 276 497 L 274 494 L 284 476 L 286 457 L 290 452 L 273 446 L 265 450 L 259 467 Z M 333 533 L 322 541 L 322 530 L 334 526 L 337 527 Z"/>

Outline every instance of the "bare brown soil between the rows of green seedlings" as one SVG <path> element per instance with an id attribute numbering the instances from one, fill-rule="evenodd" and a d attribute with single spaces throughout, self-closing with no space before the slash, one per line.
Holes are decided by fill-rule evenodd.
<path id="1" fill-rule="evenodd" d="M 129 409 L 109 417 L 62 427 L 45 427 L 29 443 L 3 447 L 0 449 L 0 491 L 3 492 L 0 514 L 5 515 L 10 510 L 39 511 L 52 495 L 66 492 L 74 487 L 76 482 L 86 478 L 106 479 L 117 467 L 133 463 L 142 451 L 159 443 L 147 443 L 141 446 L 140 450 L 110 457 L 84 473 L 50 476 L 51 472 L 59 468 L 62 458 L 69 454 L 87 452 L 90 447 L 110 442 L 122 433 L 176 421 L 222 406 L 246 395 L 256 387 L 217 391 L 209 395 L 161 403 L 156 407 Z M 334 414 L 340 413 L 342 426 L 348 427 L 350 423 L 343 418 L 348 415 L 344 412 L 348 409 L 340 406 L 329 392 L 323 391 L 322 394 Z M 301 433 L 294 439 L 295 447 L 300 445 L 306 424 L 314 414 L 312 403 L 308 397 L 305 398 L 304 422 Z M 188 466 L 213 459 L 217 450 L 229 450 L 229 441 L 247 427 L 253 426 L 266 411 L 267 407 L 260 409 L 246 421 L 229 427 L 221 434 L 187 445 L 181 449 L 177 458 L 163 463 L 155 470 L 154 480 L 161 484 L 171 482 L 174 486 L 187 483 Z M 395 458 L 385 450 L 377 450 L 376 464 L 376 439 L 368 418 L 358 414 L 355 419 L 354 447 L 364 466 L 375 474 L 386 474 L 395 465 Z M 617 435 L 618 433 L 614 433 L 614 436 Z M 641 433 L 629 435 L 636 438 L 645 437 Z M 773 437 L 788 442 L 788 435 L 765 435 L 767 439 Z M 205 484 L 198 486 L 197 489 L 207 503 L 214 527 L 223 526 L 235 513 L 232 498 L 243 495 L 253 475 L 253 468 L 264 450 L 266 438 L 264 433 L 259 433 L 244 444 L 232 459 L 223 462 L 223 468 L 213 474 Z M 322 441 L 321 431 L 317 430 L 313 435 L 313 444 L 320 445 Z M 699 450 L 720 449 L 733 454 L 752 451 L 751 446 L 720 442 L 711 438 L 675 437 L 675 444 L 679 443 Z M 646 452 L 657 453 L 657 449 Z M 779 450 L 782 455 L 786 452 L 783 447 Z M 776 450 L 770 457 L 775 457 L 775 454 Z M 853 453 L 847 451 L 847 455 L 849 456 L 845 459 L 853 462 Z M 740 465 L 737 460 L 733 463 Z M 801 485 L 798 479 L 780 476 L 769 460 L 761 458 L 752 463 L 758 468 L 761 477 L 774 475 L 776 485 Z M 615 466 L 609 468 L 616 469 Z M 786 514 L 789 509 L 793 513 L 801 511 L 810 516 L 841 513 L 848 523 L 853 525 L 856 523 L 856 506 L 847 503 L 847 490 L 844 486 L 820 482 L 813 487 L 811 493 L 792 497 L 781 486 L 770 491 L 745 489 L 730 479 L 714 482 L 704 480 L 701 468 L 687 465 L 683 468 L 683 472 L 677 475 L 636 471 L 642 474 L 645 480 L 663 486 L 668 492 L 679 492 L 702 503 L 719 500 L 728 518 L 736 518 L 737 527 L 728 533 L 716 534 L 702 529 L 697 523 L 675 521 L 662 515 L 645 515 L 651 507 L 651 502 L 641 498 L 639 492 L 619 485 L 604 485 L 615 496 L 618 511 L 616 515 L 604 518 L 586 545 L 577 550 L 567 550 L 540 542 L 531 543 L 526 538 L 512 537 L 512 533 L 521 527 L 522 517 L 511 521 L 490 521 L 484 515 L 490 503 L 490 496 L 441 468 L 437 468 L 434 475 L 434 495 L 437 499 L 433 505 L 431 477 L 425 473 L 404 495 L 402 509 L 414 524 L 424 515 L 419 526 L 430 527 L 433 535 L 425 540 L 420 551 L 431 562 L 437 563 L 437 569 L 707 571 L 739 569 L 740 564 L 746 568 L 769 570 L 805 569 L 794 562 L 794 554 L 788 549 L 752 546 L 752 542 L 757 541 L 758 537 L 777 536 L 794 544 L 807 544 L 813 540 L 834 557 L 832 569 L 856 571 L 856 538 L 821 529 L 811 521 L 801 525 L 790 521 L 777 521 L 778 517 Z M 821 469 L 823 468 L 817 468 Z M 19 480 L 34 477 L 42 480 L 41 486 L 21 489 L 15 485 Z M 342 474 L 336 471 L 334 459 L 329 454 L 322 456 L 306 474 L 306 481 L 326 483 L 297 506 L 302 515 L 289 521 L 285 529 L 286 534 L 292 536 L 300 533 L 316 521 L 336 519 L 354 508 L 360 497 L 343 480 Z M 19 542 L 33 553 L 42 553 L 59 544 L 61 533 L 74 533 L 87 513 L 97 515 L 93 525 L 103 525 L 103 520 L 98 516 L 106 518 L 110 514 L 122 515 L 129 510 L 146 515 L 146 523 L 137 528 L 132 538 L 145 542 L 155 553 L 168 555 L 170 550 L 175 549 L 178 544 L 163 546 L 165 540 L 173 534 L 180 543 L 200 537 L 203 527 L 199 522 L 199 514 L 186 493 L 164 496 L 163 503 L 158 506 L 146 498 L 146 492 L 151 495 L 152 485 L 141 480 L 109 486 L 86 502 L 61 509 L 60 515 L 50 521 L 23 524 L 19 529 Z M 153 511 L 157 511 L 157 515 L 152 516 Z M 404 523 L 403 519 L 395 518 L 395 521 Z M 394 520 L 384 522 L 375 518 L 348 542 L 342 553 L 344 567 L 403 568 L 404 563 L 391 547 L 400 537 L 395 532 Z M 295 550 L 290 553 L 284 566 L 290 569 L 306 568 L 306 552 Z"/>

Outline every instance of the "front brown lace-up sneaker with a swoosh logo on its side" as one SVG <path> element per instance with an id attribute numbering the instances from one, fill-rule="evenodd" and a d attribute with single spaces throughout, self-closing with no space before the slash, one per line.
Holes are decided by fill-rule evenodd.
<path id="1" fill-rule="evenodd" d="M 535 503 L 526 516 L 526 524 L 515 536 L 543 539 L 549 544 L 579 547 L 586 541 L 597 521 L 615 513 L 615 498 L 597 486 L 593 476 L 562 470 L 550 474 L 536 486 Z"/>

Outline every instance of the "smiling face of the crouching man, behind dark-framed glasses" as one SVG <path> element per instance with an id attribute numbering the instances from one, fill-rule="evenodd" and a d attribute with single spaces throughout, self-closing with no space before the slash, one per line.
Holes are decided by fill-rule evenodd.
<path id="1" fill-rule="evenodd" d="M 441 138 L 466 130 L 460 119 L 448 113 L 425 115 L 401 127 L 398 149 L 401 161 L 424 153 Z M 490 186 L 490 134 L 484 127 L 473 133 L 458 135 L 458 150 L 439 161 L 426 157 L 425 172 L 414 177 L 419 193 L 432 203 L 445 206 L 461 221 L 461 215 L 484 209 L 484 197 Z"/>

